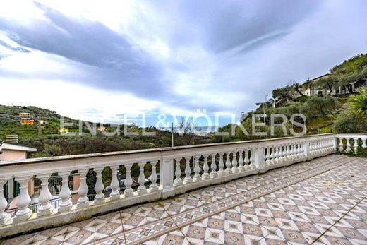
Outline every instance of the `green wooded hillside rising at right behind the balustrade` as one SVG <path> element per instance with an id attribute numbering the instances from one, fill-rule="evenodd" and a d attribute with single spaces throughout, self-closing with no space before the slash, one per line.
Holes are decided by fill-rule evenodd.
<path id="1" fill-rule="evenodd" d="M 320 88 L 330 89 L 330 86 L 347 85 L 359 79 L 367 78 L 367 54 L 359 54 L 347 59 L 342 64 L 336 65 L 330 69 L 331 76 L 322 78 L 313 84 Z M 309 84 L 308 84 L 309 85 Z M 272 99 L 266 106 L 266 126 L 257 127 L 257 131 L 267 132 L 266 136 L 245 135 L 243 131 L 236 127 L 236 133 L 233 136 L 215 136 L 213 142 L 223 141 L 243 141 L 258 138 L 282 137 L 284 133 L 282 128 L 275 128 L 273 136 L 270 135 L 270 114 L 284 114 L 289 119 L 292 114 L 304 114 L 306 116 L 306 134 L 315 133 L 367 133 L 367 90 L 359 90 L 356 94 L 347 95 L 314 95 L 305 96 L 301 92 L 302 84 L 291 82 L 288 85 L 277 88 L 272 91 Z M 298 96 L 296 96 L 298 95 Z M 277 104 L 277 107 L 272 107 Z M 251 133 L 251 115 L 263 114 L 264 105 L 248 112 L 248 117 L 241 124 Z M 263 119 L 261 119 L 261 122 Z M 260 121 L 259 121 L 260 122 Z M 281 121 L 275 121 L 281 123 Z M 301 122 L 301 121 L 300 121 Z M 287 133 L 290 129 L 300 132 L 301 128 L 293 126 L 287 122 Z M 231 125 L 219 129 L 219 131 L 231 132 Z"/>

